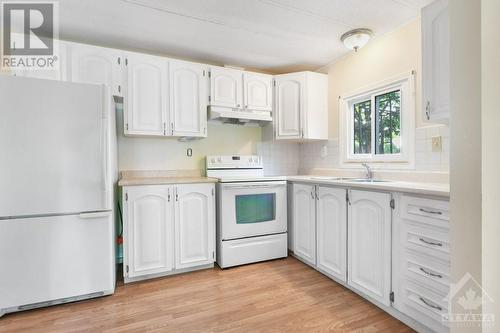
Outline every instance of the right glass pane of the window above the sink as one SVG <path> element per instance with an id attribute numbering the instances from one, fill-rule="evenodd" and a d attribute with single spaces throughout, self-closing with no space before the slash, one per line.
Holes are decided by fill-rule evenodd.
<path id="1" fill-rule="evenodd" d="M 375 154 L 401 152 L 401 91 L 375 96 Z"/>

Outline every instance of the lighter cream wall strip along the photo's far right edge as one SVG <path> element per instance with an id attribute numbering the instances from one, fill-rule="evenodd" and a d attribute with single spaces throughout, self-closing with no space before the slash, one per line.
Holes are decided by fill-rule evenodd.
<path id="1" fill-rule="evenodd" d="M 483 288 L 495 303 L 486 303 L 484 313 L 494 313 L 497 324 L 484 332 L 500 331 L 500 1 L 481 2 L 481 92 L 482 92 L 482 171 Z"/>

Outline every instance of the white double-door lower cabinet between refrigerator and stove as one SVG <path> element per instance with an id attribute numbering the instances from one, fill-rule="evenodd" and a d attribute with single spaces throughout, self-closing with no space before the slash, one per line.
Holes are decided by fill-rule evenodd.
<path id="1" fill-rule="evenodd" d="M 123 187 L 125 282 L 213 266 L 214 191 L 214 184 Z"/>

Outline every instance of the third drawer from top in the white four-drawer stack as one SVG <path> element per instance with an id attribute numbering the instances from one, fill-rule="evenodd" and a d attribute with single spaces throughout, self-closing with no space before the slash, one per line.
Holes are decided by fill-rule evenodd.
<path id="1" fill-rule="evenodd" d="M 440 293 L 450 290 L 450 263 L 406 251 L 402 258 L 404 277 Z"/>

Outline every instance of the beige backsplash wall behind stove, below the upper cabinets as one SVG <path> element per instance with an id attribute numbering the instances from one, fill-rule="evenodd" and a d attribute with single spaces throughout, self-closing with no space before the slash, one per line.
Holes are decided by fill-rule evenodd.
<path id="1" fill-rule="evenodd" d="M 140 138 L 123 135 L 123 116 L 117 112 L 119 170 L 204 170 L 205 156 L 217 154 L 255 154 L 260 127 L 236 125 L 208 126 L 206 139 L 179 142 L 175 138 Z M 193 156 L 186 156 L 186 149 Z"/>

